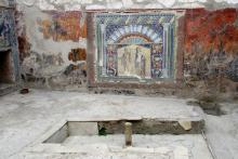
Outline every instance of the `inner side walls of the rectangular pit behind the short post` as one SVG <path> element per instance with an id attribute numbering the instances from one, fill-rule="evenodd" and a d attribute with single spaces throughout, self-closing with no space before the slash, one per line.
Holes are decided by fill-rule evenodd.
<path id="1" fill-rule="evenodd" d="M 185 121 L 189 124 L 185 129 L 181 121 L 161 119 L 118 119 L 66 121 L 58 127 L 43 143 L 63 143 L 67 137 L 77 135 L 111 135 L 123 134 L 124 123 L 132 123 L 133 134 L 198 134 L 203 129 L 203 121 Z"/>

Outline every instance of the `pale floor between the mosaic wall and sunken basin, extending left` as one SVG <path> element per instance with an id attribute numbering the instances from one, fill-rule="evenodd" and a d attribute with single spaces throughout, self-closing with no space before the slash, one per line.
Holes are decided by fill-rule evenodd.
<path id="1" fill-rule="evenodd" d="M 15 92 L 0 97 L 0 158 L 19 158 L 18 155 L 24 153 L 25 147 L 62 119 L 129 117 L 203 120 L 203 114 L 198 107 L 188 106 L 185 100 L 175 97 L 95 95 L 39 90 L 22 95 Z M 44 158 L 44 155 L 41 157 Z"/>

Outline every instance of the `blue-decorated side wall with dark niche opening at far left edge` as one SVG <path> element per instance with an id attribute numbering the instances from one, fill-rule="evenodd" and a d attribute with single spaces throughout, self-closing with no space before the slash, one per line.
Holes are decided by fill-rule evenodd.
<path id="1" fill-rule="evenodd" d="M 2 83 L 19 83 L 19 63 L 14 10 L 0 8 L 0 53 Z"/>

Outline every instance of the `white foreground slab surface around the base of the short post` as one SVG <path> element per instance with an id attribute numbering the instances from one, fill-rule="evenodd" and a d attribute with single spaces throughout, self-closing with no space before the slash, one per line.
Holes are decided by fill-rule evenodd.
<path id="1" fill-rule="evenodd" d="M 40 155 L 39 155 L 40 154 Z M 57 155 L 56 155 L 57 154 Z M 25 150 L 24 156 L 36 158 L 48 155 L 49 158 L 67 157 L 83 158 L 141 158 L 155 159 L 212 159 L 202 135 L 133 135 L 133 144 L 124 146 L 124 136 L 120 134 L 107 136 L 69 136 L 62 144 L 41 144 Z M 89 156 L 85 156 L 89 155 Z M 23 156 L 23 154 L 22 154 Z"/>

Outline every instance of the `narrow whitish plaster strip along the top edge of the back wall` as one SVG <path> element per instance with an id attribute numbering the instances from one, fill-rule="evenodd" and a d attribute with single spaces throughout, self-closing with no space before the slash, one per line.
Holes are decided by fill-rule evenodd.
<path id="1" fill-rule="evenodd" d="M 181 8 L 236 8 L 237 0 L 16 0 L 19 9 L 38 6 L 41 10 L 98 10 L 98 9 L 181 9 Z"/>

